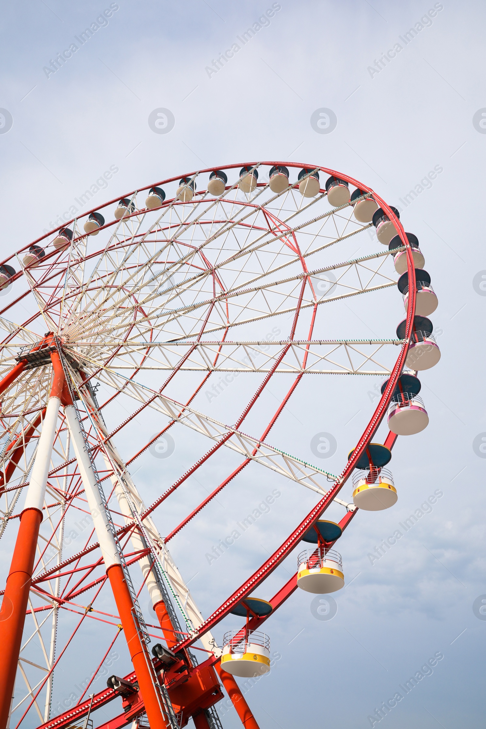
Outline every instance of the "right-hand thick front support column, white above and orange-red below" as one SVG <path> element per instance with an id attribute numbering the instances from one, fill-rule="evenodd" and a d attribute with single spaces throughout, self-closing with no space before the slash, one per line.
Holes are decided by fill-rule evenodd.
<path id="1" fill-rule="evenodd" d="M 87 502 L 90 507 L 91 516 L 93 517 L 96 536 L 98 537 L 103 561 L 106 566 L 106 574 L 108 574 L 119 617 L 122 621 L 125 639 L 128 644 L 128 650 L 130 651 L 133 668 L 135 668 L 137 674 L 138 685 L 140 686 L 140 692 L 144 699 L 149 724 L 152 729 L 166 729 L 171 725 L 168 717 L 165 717 L 165 712 L 163 712 L 160 703 L 160 695 L 155 687 L 155 681 L 157 679 L 155 677 L 152 660 L 146 644 L 141 640 L 140 625 L 136 617 L 133 599 L 125 580 L 117 544 L 111 533 L 106 511 L 101 501 L 98 483 L 90 457 L 86 451 L 85 440 L 74 405 L 66 405 L 64 413 L 66 414 L 71 442 L 85 488 Z"/>

